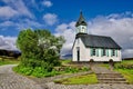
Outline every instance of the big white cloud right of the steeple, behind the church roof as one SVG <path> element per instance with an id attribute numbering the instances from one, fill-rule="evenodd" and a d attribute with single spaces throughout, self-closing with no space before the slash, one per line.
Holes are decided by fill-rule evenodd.
<path id="1" fill-rule="evenodd" d="M 133 52 L 126 53 L 126 49 L 133 49 L 133 18 L 120 18 L 121 14 L 116 14 L 112 18 L 95 18 L 91 21 L 91 24 L 89 24 L 89 30 L 93 34 L 100 34 L 100 36 L 110 36 L 112 37 L 121 47 L 123 50 L 123 57 L 130 57 Z"/>

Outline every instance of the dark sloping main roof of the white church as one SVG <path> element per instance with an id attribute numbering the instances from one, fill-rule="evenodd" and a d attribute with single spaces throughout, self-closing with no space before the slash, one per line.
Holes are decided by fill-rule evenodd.
<path id="1" fill-rule="evenodd" d="M 121 49 L 111 37 L 79 33 L 76 34 L 76 39 L 78 38 L 81 38 L 85 47 Z"/>

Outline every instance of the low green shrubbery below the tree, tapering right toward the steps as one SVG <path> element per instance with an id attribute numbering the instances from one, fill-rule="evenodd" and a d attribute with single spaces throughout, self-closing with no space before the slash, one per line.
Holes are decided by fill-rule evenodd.
<path id="1" fill-rule="evenodd" d="M 38 78 L 90 70 L 88 67 L 54 67 L 51 63 L 32 59 L 27 60 L 27 62 L 23 60 L 23 62 L 13 69 L 16 72 L 24 76 L 33 76 Z"/>

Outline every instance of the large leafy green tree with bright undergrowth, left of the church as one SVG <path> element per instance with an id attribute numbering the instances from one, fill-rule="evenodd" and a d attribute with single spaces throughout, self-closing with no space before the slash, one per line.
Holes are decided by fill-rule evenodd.
<path id="1" fill-rule="evenodd" d="M 48 30 L 22 30 L 17 40 L 21 50 L 21 63 L 16 71 L 35 77 L 52 76 L 53 67 L 60 66 L 60 49 L 64 43 L 62 37 L 55 37 Z"/>

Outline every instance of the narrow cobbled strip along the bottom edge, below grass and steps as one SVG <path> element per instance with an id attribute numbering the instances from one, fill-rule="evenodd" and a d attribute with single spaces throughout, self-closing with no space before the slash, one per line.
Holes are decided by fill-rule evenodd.
<path id="1" fill-rule="evenodd" d="M 50 89 L 133 89 L 133 85 L 57 85 L 54 82 L 47 83 Z"/>

